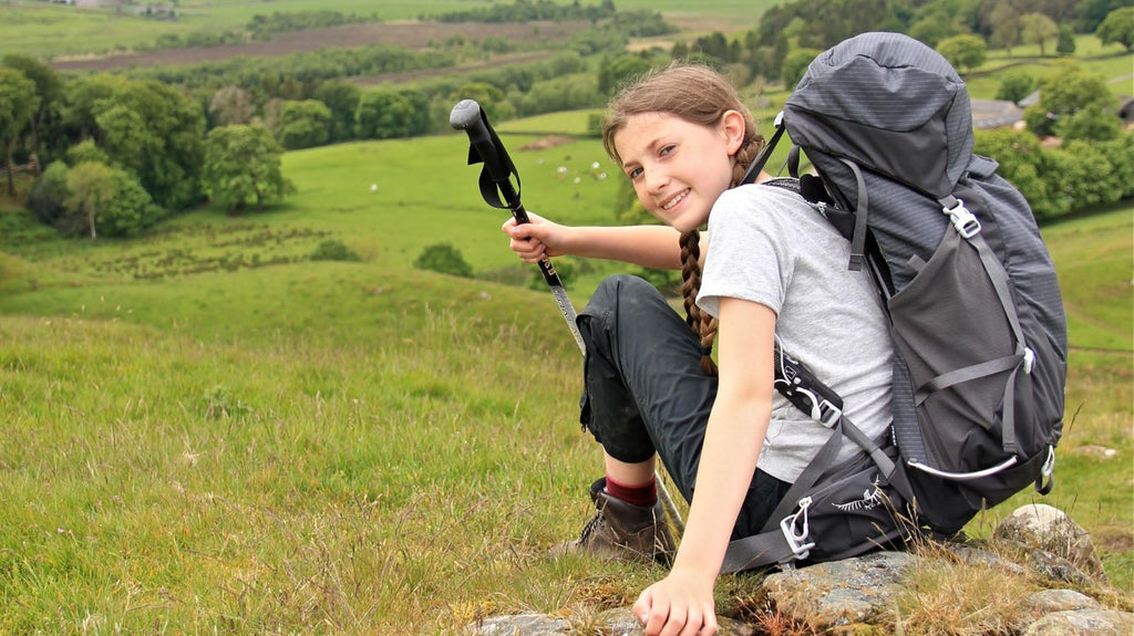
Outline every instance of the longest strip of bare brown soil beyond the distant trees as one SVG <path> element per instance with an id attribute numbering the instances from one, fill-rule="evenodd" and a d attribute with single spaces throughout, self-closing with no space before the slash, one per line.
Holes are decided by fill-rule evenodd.
<path id="1" fill-rule="evenodd" d="M 319 49 L 352 49 L 371 44 L 405 46 L 421 50 L 431 43 L 443 43 L 449 37 L 460 35 L 467 40 L 499 37 L 514 44 L 542 43 L 549 48 L 573 34 L 589 28 L 585 20 L 577 22 L 532 22 L 532 23 L 431 23 L 390 22 L 352 24 L 330 28 L 312 28 L 284 33 L 269 42 L 247 44 L 223 44 L 195 49 L 168 49 L 121 53 L 101 58 L 58 60 L 52 62 L 57 70 L 103 71 L 130 66 L 183 66 L 215 62 L 235 57 L 280 57 L 288 53 L 318 51 Z"/>

